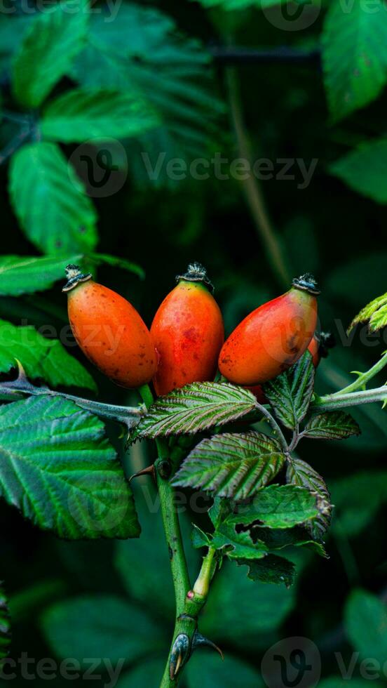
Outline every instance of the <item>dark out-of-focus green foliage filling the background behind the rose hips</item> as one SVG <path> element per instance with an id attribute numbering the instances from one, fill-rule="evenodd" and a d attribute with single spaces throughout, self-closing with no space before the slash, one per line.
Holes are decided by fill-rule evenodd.
<path id="1" fill-rule="evenodd" d="M 299 30 L 291 30 L 284 15 L 271 14 L 278 4 L 123 3 L 109 21 L 111 6 L 96 5 L 102 13 L 89 21 L 80 12 L 67 15 L 69 24 L 27 14 L 19 2 L 15 13 L 0 13 L 1 253 L 7 256 L 0 260 L 1 319 L 32 325 L 46 337 L 64 332 L 65 302 L 55 282 L 69 256 L 74 262 L 87 255 L 98 279 L 126 296 L 148 324 L 175 274 L 199 260 L 215 283 L 226 333 L 284 290 L 284 272 L 311 270 L 322 287 L 322 329 L 337 339 L 318 370 L 318 392 L 344 386 L 350 371 L 376 362 L 386 333 L 371 337 L 358 328 L 347 338 L 346 327 L 367 300 L 386 291 L 386 8 L 380 2 L 377 15 L 365 12 L 360 0 L 348 13 L 339 2 L 299 3 L 310 14 L 301 15 L 306 20 Z M 227 60 L 230 46 L 259 53 Z M 160 152 L 166 161 L 188 164 L 215 152 L 232 161 L 243 143 L 236 135 L 238 114 L 252 160 L 269 159 L 277 172 L 282 159 L 304 161 L 307 168 L 317 160 L 304 188 L 297 164 L 290 170 L 293 179 L 274 175 L 254 183 L 282 272 L 276 261 L 273 269 L 244 183 L 212 174 L 208 180 L 173 180 L 165 166 L 152 181 L 141 156 L 149 154 L 152 166 Z M 92 161 L 97 142 L 109 139 L 103 150 L 118 168 L 118 182 L 107 193 L 103 186 L 93 188 L 93 176 L 81 165 L 79 146 L 90 139 Z M 93 261 L 93 251 L 133 261 L 145 279 L 133 266 L 123 272 L 109 258 Z M 49 279 L 48 266 L 40 263 L 30 288 L 25 272 L 13 271 L 11 279 L 1 274 L 4 266 L 18 265 L 15 256 L 44 253 L 53 258 Z M 96 261 L 102 263 L 98 269 Z M 85 364 L 72 341 L 67 344 L 69 354 Z M 104 400 L 135 399 L 90 372 Z M 78 381 L 88 375 L 76 367 L 72 374 Z M 89 378 L 83 381 L 92 386 Z M 226 659 L 197 654 L 186 688 L 196 687 L 198 675 L 203 688 L 260 687 L 262 656 L 283 637 L 305 636 L 318 645 L 322 688 L 341 685 L 335 652 L 343 653 L 346 665 L 353 651 L 359 662 L 387 660 L 386 411 L 372 404 L 353 415 L 360 438 L 331 442 L 329 449 L 323 442 L 304 442 L 300 449 L 332 491 L 330 560 L 295 552 L 299 573 L 289 590 L 253 583 L 244 567 L 225 564 L 202 630 Z M 109 432 L 121 447 L 116 428 Z M 130 449 L 123 457 L 128 475 L 147 465 L 150 454 L 144 443 Z M 13 656 L 106 656 L 113 663 L 125 656 L 118 688 L 158 684 L 170 640 L 165 623 L 172 621 L 173 609 L 160 519 L 149 511 L 149 483 L 140 479 L 136 486 L 139 541 L 57 541 L 0 503 L 1 577 L 13 617 Z M 183 519 L 189 541 L 189 511 Z M 189 551 L 193 569 L 197 557 Z M 156 599 L 154 590 L 163 594 Z M 225 611 L 231 599 L 235 604 Z M 94 684 L 106 682 L 105 676 Z M 39 679 L 34 684 L 39 687 Z M 352 684 L 368 684 L 359 663 Z M 62 685 L 67 681 L 56 678 L 55 686 Z"/>

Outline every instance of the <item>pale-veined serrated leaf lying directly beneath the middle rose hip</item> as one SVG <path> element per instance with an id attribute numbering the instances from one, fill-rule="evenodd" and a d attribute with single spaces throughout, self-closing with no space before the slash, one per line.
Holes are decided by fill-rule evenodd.
<path id="1" fill-rule="evenodd" d="M 254 408 L 255 397 L 248 390 L 229 383 L 192 383 L 157 399 L 131 439 L 196 434 L 236 421 Z"/>

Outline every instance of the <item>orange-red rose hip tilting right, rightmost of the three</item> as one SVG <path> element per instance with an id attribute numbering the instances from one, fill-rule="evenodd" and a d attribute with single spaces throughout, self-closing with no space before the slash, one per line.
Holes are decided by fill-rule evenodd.
<path id="1" fill-rule="evenodd" d="M 283 296 L 247 315 L 222 347 L 222 375 L 238 385 L 258 385 L 292 366 L 313 337 L 318 293 L 312 275 L 305 274 Z"/>

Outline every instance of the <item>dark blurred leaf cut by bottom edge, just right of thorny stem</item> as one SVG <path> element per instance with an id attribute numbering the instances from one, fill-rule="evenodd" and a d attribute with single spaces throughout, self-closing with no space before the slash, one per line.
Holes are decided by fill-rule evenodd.
<path id="1" fill-rule="evenodd" d="M 252 666 L 233 657 L 229 652 L 224 657 L 224 661 L 217 654 L 195 653 L 189 659 L 184 675 L 188 688 L 198 688 L 198 676 L 200 676 L 201 688 L 215 688 L 215 686 L 263 688 L 264 686 L 262 678 Z M 137 684 L 137 688 L 140 688 L 140 684 Z"/>

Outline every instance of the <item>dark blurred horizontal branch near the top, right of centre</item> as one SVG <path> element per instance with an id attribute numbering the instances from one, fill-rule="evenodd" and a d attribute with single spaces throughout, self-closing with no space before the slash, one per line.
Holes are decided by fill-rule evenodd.
<path id="1" fill-rule="evenodd" d="M 298 48 L 279 46 L 278 48 L 244 48 L 239 46 L 210 46 L 209 51 L 215 62 L 220 65 L 290 65 L 320 67 L 320 48 L 305 51 Z"/>

